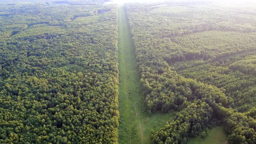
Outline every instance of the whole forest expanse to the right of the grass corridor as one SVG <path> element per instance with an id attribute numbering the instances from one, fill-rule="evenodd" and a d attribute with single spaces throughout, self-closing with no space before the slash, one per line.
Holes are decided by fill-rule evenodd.
<path id="1" fill-rule="evenodd" d="M 203 128 L 210 125 L 208 122 L 202 123 L 207 119 L 226 119 L 226 127 L 232 127 L 232 123 L 227 121 L 231 115 L 239 114 L 248 118 L 245 114 L 236 113 L 236 109 L 233 109 L 235 105 L 254 102 L 255 91 L 250 87 L 255 83 L 254 77 L 233 71 L 227 66 L 222 68 L 222 65 L 230 64 L 229 60 L 218 61 L 255 50 L 256 28 L 249 24 L 252 23 L 251 15 L 244 17 L 243 22 L 237 21 L 236 17 L 244 13 L 236 11 L 236 7 L 230 7 L 235 11 L 234 15 L 231 10 L 213 8 L 222 7 L 218 4 L 207 3 L 213 6 L 210 7 L 202 3 L 163 3 L 159 7 L 147 4 L 125 6 L 148 112 L 179 111 L 174 120 L 152 134 L 153 143 L 184 143 L 188 137 L 200 134 Z M 194 15 L 202 18 L 197 19 Z M 234 22 L 239 24 L 229 25 Z M 203 23 L 214 29 L 205 29 Z M 223 25 L 226 28 L 220 28 Z M 194 27 L 200 27 L 200 30 L 185 32 Z M 233 62 L 236 60 L 233 59 Z M 182 72 L 183 75 L 192 73 L 194 77 L 184 78 L 174 71 L 175 68 L 169 64 L 178 61 L 184 61 L 179 64 L 184 64 L 185 69 L 190 68 L 190 65 L 197 66 Z M 219 79 L 214 79 L 216 75 Z M 225 78 L 226 75 L 228 77 Z M 203 109 L 200 106 L 200 110 L 194 109 L 195 101 L 202 103 L 203 108 L 212 109 L 213 114 L 205 115 L 208 111 L 200 111 Z M 255 122 L 253 118 L 248 119 L 250 122 L 246 120 L 247 123 Z M 225 131 L 230 143 L 234 143 L 236 137 L 243 137 L 244 141 L 251 144 L 256 142 L 254 136 L 248 137 L 243 133 L 249 128 L 249 135 L 256 135 L 253 124 L 248 125 L 246 122 L 238 124 L 235 130 Z"/>

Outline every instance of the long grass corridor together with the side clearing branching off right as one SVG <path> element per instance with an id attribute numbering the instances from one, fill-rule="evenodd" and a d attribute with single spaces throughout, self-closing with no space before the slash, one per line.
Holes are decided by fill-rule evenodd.
<path id="1" fill-rule="evenodd" d="M 146 114 L 134 50 L 124 7 L 118 7 L 118 143 L 150 144 L 151 130 L 158 131 L 163 127 L 173 118 L 174 111 L 167 114 Z"/>

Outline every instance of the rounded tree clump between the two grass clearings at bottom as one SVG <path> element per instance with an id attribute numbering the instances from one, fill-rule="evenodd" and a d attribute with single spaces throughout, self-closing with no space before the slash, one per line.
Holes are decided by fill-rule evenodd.
<path id="1" fill-rule="evenodd" d="M 153 134 L 153 144 L 180 144 L 185 143 L 188 137 L 200 134 L 211 120 L 213 110 L 207 103 L 200 100 L 187 102 L 187 107 L 179 111 L 173 120 L 164 128 Z"/>

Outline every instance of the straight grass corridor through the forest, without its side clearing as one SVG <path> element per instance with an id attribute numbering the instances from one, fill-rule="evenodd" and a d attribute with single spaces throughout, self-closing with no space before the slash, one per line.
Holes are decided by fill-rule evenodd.
<path id="1" fill-rule="evenodd" d="M 143 139 L 143 134 L 138 133 L 140 115 L 136 108 L 143 95 L 133 49 L 124 7 L 118 7 L 119 144 L 139 144 Z"/>

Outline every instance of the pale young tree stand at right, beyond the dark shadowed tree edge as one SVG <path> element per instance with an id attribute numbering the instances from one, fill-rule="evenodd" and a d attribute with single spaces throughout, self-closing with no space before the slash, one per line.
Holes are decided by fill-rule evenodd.
<path id="1" fill-rule="evenodd" d="M 207 31 L 174 36 L 171 41 L 180 45 L 183 52 L 171 52 L 163 58 L 169 64 L 173 64 L 196 59 L 216 61 L 245 52 L 255 52 L 255 34 L 255 32 Z"/>

